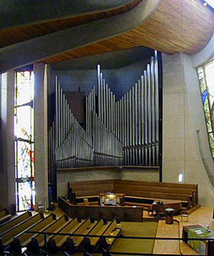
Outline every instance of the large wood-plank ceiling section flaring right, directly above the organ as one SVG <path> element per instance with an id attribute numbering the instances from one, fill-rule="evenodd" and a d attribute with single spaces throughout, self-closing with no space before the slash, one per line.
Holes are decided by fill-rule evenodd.
<path id="1" fill-rule="evenodd" d="M 201 0 L 162 0 L 140 26 L 122 35 L 66 51 L 45 63 L 65 61 L 107 51 L 146 46 L 168 54 L 189 55 L 202 50 L 214 31 L 214 13 Z"/>

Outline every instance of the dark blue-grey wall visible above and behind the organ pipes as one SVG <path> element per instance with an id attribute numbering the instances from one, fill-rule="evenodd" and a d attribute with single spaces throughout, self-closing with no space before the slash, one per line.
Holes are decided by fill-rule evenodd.
<path id="1" fill-rule="evenodd" d="M 101 69 L 103 78 L 109 88 L 116 94 L 116 99 L 124 96 L 141 77 L 146 64 L 150 59 L 144 59 L 134 64 L 122 67 L 120 69 Z M 95 67 L 96 68 L 96 67 Z M 49 93 L 54 92 L 54 77 L 57 76 L 64 91 L 84 91 L 89 94 L 93 86 L 97 86 L 97 70 L 51 70 L 50 67 L 50 87 Z"/>

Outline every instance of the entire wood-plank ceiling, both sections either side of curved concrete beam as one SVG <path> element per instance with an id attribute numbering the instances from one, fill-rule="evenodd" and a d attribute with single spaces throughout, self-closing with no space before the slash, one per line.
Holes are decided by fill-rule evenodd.
<path id="1" fill-rule="evenodd" d="M 4 29 L 0 31 L 0 48 L 127 12 L 141 1 L 144 0 L 133 0 L 124 7 L 108 12 Z M 211 9 L 204 7 L 201 0 L 161 0 L 155 12 L 135 29 L 116 37 L 59 53 L 43 59 L 42 62 L 61 62 L 138 46 L 150 47 L 168 54 L 182 51 L 191 55 L 207 45 L 213 31 L 214 13 Z"/>

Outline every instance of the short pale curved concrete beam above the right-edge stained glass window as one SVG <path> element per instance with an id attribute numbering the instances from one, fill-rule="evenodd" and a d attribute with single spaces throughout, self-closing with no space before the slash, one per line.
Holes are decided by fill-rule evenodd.
<path id="1" fill-rule="evenodd" d="M 199 67 L 214 56 L 214 34 L 206 47 L 198 53 L 191 55 L 193 67 Z"/>

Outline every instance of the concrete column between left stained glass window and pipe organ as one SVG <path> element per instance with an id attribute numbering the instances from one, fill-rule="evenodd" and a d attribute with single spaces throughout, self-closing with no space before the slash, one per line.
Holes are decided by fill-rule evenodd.
<path id="1" fill-rule="evenodd" d="M 34 64 L 36 208 L 48 206 L 48 126 L 45 64 Z"/>

